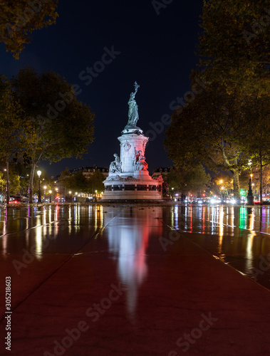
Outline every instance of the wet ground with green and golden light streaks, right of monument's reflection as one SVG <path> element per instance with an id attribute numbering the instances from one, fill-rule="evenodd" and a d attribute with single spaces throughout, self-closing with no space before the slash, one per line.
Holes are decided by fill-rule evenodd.
<path id="1" fill-rule="evenodd" d="M 270 289 L 269 206 L 175 205 L 169 219 L 199 246 Z"/>

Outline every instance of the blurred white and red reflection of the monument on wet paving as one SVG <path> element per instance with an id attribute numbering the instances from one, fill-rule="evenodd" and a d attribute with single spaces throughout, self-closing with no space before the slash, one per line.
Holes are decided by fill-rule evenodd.
<path id="1" fill-rule="evenodd" d="M 108 216 L 105 216 L 104 224 L 108 224 L 109 252 L 117 261 L 119 281 L 128 288 L 125 295 L 128 315 L 130 320 L 135 321 L 140 286 L 147 278 L 148 241 L 152 234 L 162 236 L 163 232 L 162 224 L 157 219 L 162 214 L 162 208 L 150 212 L 130 207 L 130 214 L 127 213 L 125 210 L 123 216 L 125 219 L 129 216 L 132 220 L 130 224 L 108 224 Z"/>

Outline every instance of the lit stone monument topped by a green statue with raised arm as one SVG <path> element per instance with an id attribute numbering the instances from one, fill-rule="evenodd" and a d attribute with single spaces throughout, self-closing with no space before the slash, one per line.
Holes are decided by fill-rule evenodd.
<path id="1" fill-rule="evenodd" d="M 139 85 L 128 100 L 128 124 L 118 137 L 120 157 L 110 163 L 110 172 L 104 181 L 103 200 L 158 200 L 162 199 L 162 179 L 152 179 L 145 162 L 145 146 L 148 137 L 137 127 L 139 113 L 135 95 Z"/>

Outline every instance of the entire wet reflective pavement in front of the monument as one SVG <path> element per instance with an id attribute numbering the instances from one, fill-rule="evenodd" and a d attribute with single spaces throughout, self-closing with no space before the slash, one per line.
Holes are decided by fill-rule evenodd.
<path id="1" fill-rule="evenodd" d="M 269 355 L 270 292 L 234 269 L 269 288 L 268 207 L 9 207 L 0 234 L 0 355 Z"/>

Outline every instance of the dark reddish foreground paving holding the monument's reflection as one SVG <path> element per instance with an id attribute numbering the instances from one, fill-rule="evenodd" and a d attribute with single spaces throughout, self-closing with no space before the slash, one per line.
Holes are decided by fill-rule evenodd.
<path id="1" fill-rule="evenodd" d="M 22 276 L 10 269 L 20 305 L 11 351 L 1 321 L 0 355 L 270 354 L 269 290 L 172 234 L 156 212 L 104 209 L 77 253 L 48 251 Z"/>

